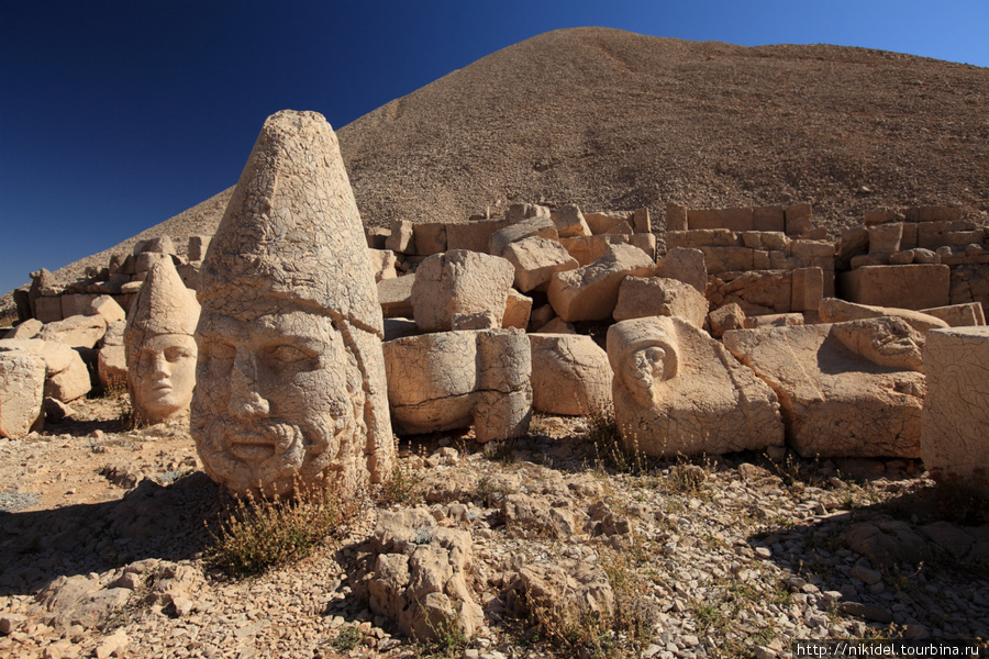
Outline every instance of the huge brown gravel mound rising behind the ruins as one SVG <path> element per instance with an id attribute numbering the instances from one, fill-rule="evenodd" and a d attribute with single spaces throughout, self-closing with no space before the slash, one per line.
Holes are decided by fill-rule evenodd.
<path id="1" fill-rule="evenodd" d="M 668 201 L 810 201 L 832 235 L 880 205 L 989 211 L 989 69 L 863 48 L 560 30 L 338 135 L 371 225 L 454 221 L 513 201 L 648 206 L 660 233 Z M 229 196 L 135 238 L 212 233 Z M 135 238 L 57 275 L 105 265 Z"/>

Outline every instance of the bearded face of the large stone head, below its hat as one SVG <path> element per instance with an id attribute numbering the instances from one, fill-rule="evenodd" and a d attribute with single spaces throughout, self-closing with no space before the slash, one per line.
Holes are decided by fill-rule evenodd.
<path id="1" fill-rule="evenodd" d="M 309 310 L 203 310 L 197 331 L 193 436 L 207 472 L 238 492 L 285 494 L 343 470 L 363 394 L 354 356 Z"/>

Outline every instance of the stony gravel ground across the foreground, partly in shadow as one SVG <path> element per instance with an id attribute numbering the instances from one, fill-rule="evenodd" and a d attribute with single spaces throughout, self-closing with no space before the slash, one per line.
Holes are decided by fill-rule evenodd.
<path id="1" fill-rule="evenodd" d="M 3 657 L 766 659 L 797 638 L 989 638 L 985 502 L 916 461 L 647 463 L 562 417 L 511 445 L 418 437 L 309 557 L 234 578 L 209 559 L 231 501 L 186 428 L 127 431 L 112 396 L 73 407 L 0 440 Z M 415 507 L 469 534 L 473 640 L 416 643 L 369 610 L 366 540 L 385 511 Z M 574 619 L 520 589 L 554 573 L 613 614 Z"/>

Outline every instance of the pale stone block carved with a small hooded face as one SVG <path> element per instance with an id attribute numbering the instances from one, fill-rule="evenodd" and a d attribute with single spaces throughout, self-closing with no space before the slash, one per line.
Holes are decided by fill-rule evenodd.
<path id="1" fill-rule="evenodd" d="M 776 394 L 702 330 L 676 317 L 608 330 L 614 416 L 629 449 L 719 455 L 781 446 Z"/>

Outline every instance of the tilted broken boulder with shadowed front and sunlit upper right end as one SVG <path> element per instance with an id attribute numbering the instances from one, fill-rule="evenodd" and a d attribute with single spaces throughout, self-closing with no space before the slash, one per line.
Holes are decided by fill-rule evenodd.
<path id="1" fill-rule="evenodd" d="M 566 322 L 601 321 L 618 302 L 619 287 L 629 276 L 652 275 L 653 259 L 631 245 L 609 245 L 600 259 L 565 272 L 549 282 L 549 303 Z"/>

